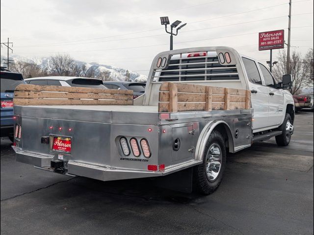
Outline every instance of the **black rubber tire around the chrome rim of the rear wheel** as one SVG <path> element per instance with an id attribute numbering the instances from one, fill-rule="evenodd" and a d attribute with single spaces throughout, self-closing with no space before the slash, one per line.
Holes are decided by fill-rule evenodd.
<path id="1" fill-rule="evenodd" d="M 217 146 L 219 146 L 219 150 L 221 153 L 221 160 L 219 161 L 221 164 L 218 170 L 218 175 L 214 179 L 209 179 L 210 177 L 208 176 L 206 168 L 207 168 L 207 164 L 209 163 L 208 156 L 213 156 L 213 155 L 210 155 L 210 154 L 208 155 L 208 153 L 209 153 L 210 148 L 214 148 Z M 219 158 L 220 158 L 220 155 L 219 155 Z M 209 139 L 206 143 L 204 156 L 203 156 L 203 163 L 195 166 L 193 169 L 194 188 L 198 192 L 208 195 L 214 192 L 218 188 L 218 186 L 220 185 L 222 181 L 223 173 L 226 168 L 226 158 L 227 156 L 226 156 L 226 146 L 225 146 L 224 138 L 218 131 L 214 130 L 210 134 Z M 210 172 L 215 172 L 215 170 L 210 171 Z"/>

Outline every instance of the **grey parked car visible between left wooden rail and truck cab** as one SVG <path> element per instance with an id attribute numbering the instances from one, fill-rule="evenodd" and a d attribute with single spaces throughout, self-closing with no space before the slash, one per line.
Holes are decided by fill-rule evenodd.
<path id="1" fill-rule="evenodd" d="M 133 98 L 145 93 L 145 82 L 121 82 L 121 81 L 111 81 L 104 82 L 104 85 L 108 89 L 118 89 L 118 90 L 132 90 Z"/>

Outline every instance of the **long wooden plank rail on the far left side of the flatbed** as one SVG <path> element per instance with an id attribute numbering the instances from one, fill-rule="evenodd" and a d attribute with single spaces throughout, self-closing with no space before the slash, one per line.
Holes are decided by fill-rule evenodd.
<path id="1" fill-rule="evenodd" d="M 14 105 L 132 105 L 133 91 L 20 84 Z"/>

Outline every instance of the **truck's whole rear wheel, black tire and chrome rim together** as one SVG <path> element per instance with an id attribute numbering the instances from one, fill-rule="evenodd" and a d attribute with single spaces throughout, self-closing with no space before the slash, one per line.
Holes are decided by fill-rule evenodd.
<path id="1" fill-rule="evenodd" d="M 214 130 L 206 143 L 203 164 L 194 167 L 195 188 L 206 195 L 214 192 L 226 167 L 226 146 L 222 135 Z"/>

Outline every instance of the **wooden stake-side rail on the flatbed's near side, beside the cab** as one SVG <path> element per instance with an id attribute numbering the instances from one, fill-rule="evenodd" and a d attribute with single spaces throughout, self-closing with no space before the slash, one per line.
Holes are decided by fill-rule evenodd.
<path id="1" fill-rule="evenodd" d="M 251 92 L 242 89 L 163 82 L 158 112 L 235 110 L 251 108 Z"/>

